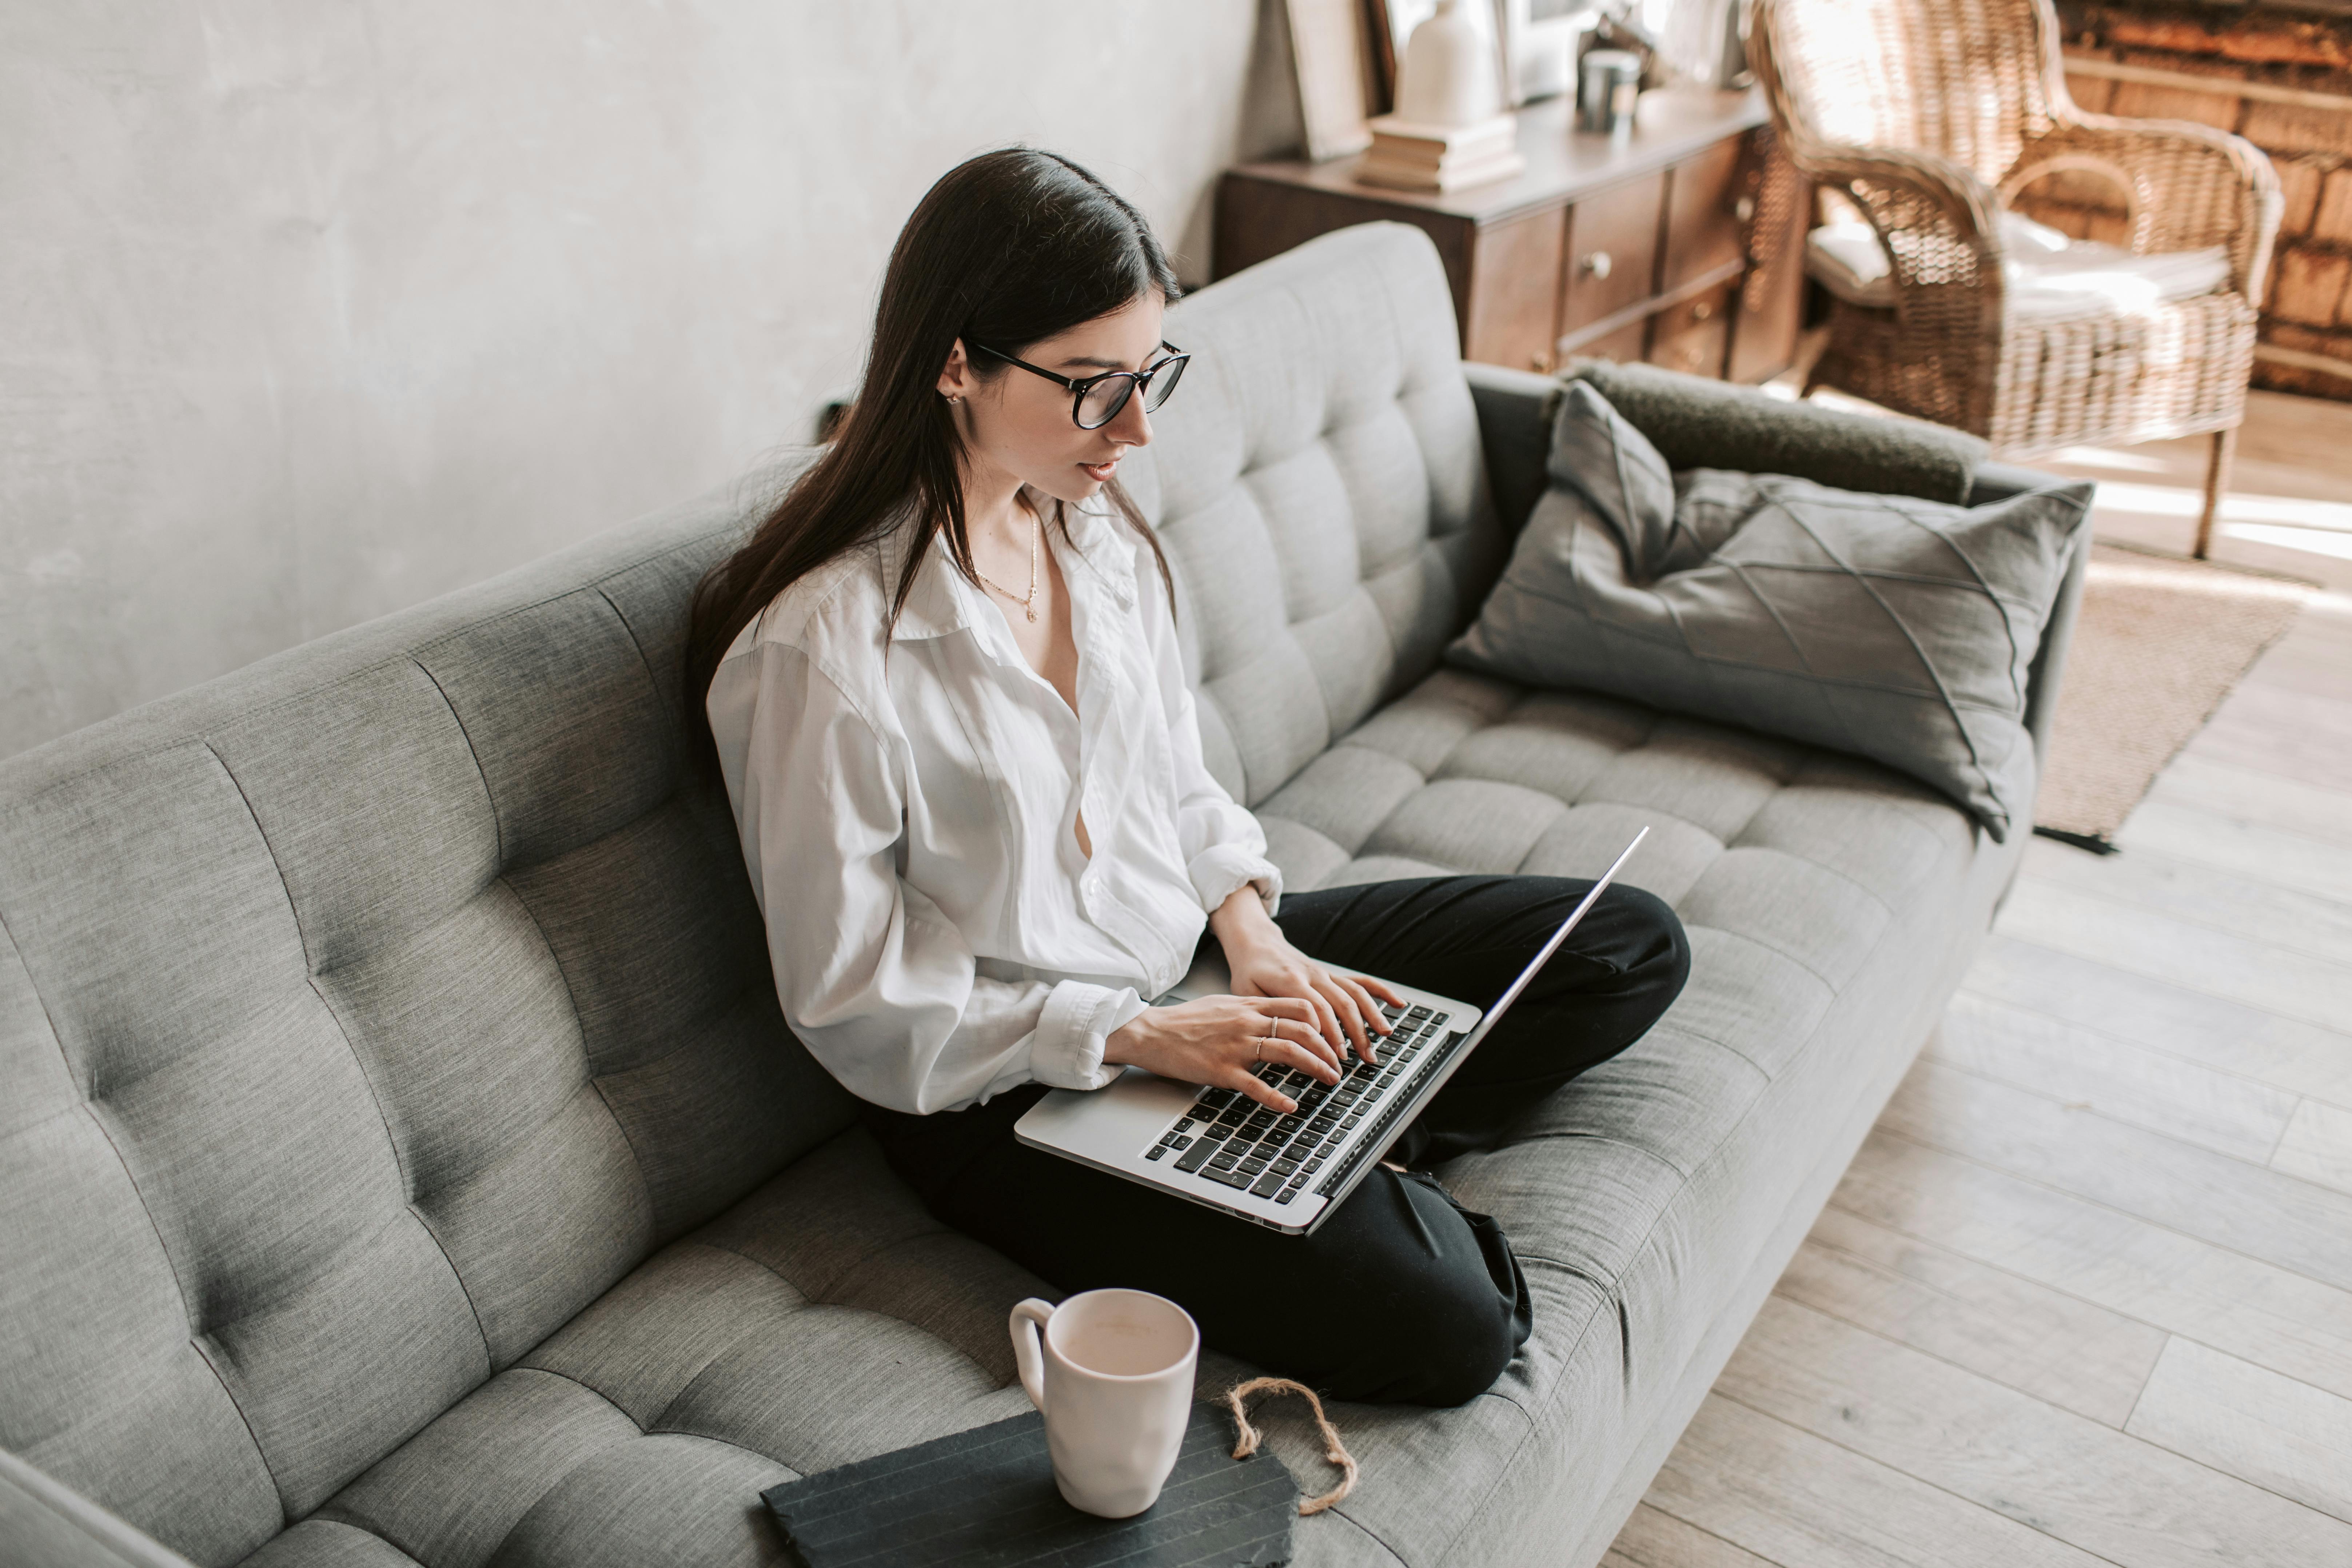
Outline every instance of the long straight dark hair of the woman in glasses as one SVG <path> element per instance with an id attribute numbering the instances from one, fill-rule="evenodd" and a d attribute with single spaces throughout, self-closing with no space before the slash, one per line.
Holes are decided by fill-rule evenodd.
<path id="1" fill-rule="evenodd" d="M 948 536 L 955 567 L 976 578 L 964 534 L 964 437 L 938 395 L 955 341 L 1018 355 L 1152 292 L 1174 301 L 1176 273 L 1143 214 L 1068 158 L 1033 148 L 983 153 L 931 186 L 891 247 L 866 383 L 833 444 L 694 590 L 687 724 L 706 764 L 715 752 L 703 701 L 734 639 L 795 581 L 884 534 L 908 501 L 915 534 L 891 623 L 936 534 Z M 967 355 L 967 364 L 983 381 L 1007 369 L 985 355 Z M 1169 581 L 1167 557 L 1134 498 L 1117 480 L 1105 491 Z M 1056 524 L 1068 536 L 1058 508 Z"/>

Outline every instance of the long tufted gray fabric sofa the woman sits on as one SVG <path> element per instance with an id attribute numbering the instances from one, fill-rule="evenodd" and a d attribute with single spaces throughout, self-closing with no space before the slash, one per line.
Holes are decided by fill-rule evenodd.
<path id="1" fill-rule="evenodd" d="M 2023 839 L 1439 663 L 1552 383 L 1461 364 L 1418 230 L 1305 244 L 1169 336 L 1192 374 L 1131 484 L 1291 886 L 1590 875 L 1656 830 L 1632 879 L 1689 990 L 1442 1173 L 1510 1229 L 1534 1340 L 1458 1410 L 1341 1406 L 1364 1481 L 1298 1530 L 1303 1563 L 1592 1563 Z M 790 1039 L 680 762 L 687 592 L 755 501 L 0 764 L 0 1559 L 771 1561 L 760 1488 L 1025 1408 L 1004 1314 L 1047 1284 L 931 1220 Z M 1237 1371 L 1211 1347 L 1204 1392 Z"/>

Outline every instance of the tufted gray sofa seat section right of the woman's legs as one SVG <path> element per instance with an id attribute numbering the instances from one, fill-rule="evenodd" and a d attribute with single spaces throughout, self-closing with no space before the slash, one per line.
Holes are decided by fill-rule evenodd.
<path id="1" fill-rule="evenodd" d="M 1536 1331 L 1461 1410 L 1343 1408 L 1367 1483 L 1303 1563 L 1475 1563 L 1550 1488 L 1599 1507 L 1639 1420 L 1806 1180 L 1884 1095 L 1889 1037 L 1940 999 L 2013 846 L 1926 785 L 1818 748 L 1597 693 L 1439 670 L 1261 809 L 1284 884 L 1449 872 L 1625 879 L 1675 905 L 1691 980 L 1630 1051 L 1529 1105 L 1439 1178 L 1526 1265 Z M 1879 1081 L 1884 1079 L 1884 1081 Z M 1442 1458 L 1437 1458 L 1442 1455 Z M 1423 1467 L 1444 1486 L 1399 1483 Z M 1378 1542 L 1350 1552 L 1348 1542 Z"/>

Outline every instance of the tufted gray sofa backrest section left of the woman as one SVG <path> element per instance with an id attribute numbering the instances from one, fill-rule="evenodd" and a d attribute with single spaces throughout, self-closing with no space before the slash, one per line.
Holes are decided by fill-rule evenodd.
<path id="1" fill-rule="evenodd" d="M 0 1446 L 235 1561 L 849 1124 L 680 766 L 739 515 L 0 764 Z"/>

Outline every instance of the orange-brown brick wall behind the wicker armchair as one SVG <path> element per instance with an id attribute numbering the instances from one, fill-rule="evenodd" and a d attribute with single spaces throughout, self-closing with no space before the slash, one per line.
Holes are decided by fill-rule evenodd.
<path id="1" fill-rule="evenodd" d="M 2253 383 L 2352 400 L 2352 7 L 2058 0 L 2058 14 L 2070 59 L 2201 78 L 2171 85 L 2067 71 L 2084 108 L 2199 120 L 2270 153 L 2286 219 L 2263 301 L 2263 343 L 2343 360 L 2347 376 L 2258 360 Z M 2249 96 L 2246 85 L 2343 96 L 2345 108 Z M 2096 179 L 2042 181 L 2018 207 L 2077 235 L 2119 237 L 2124 228 L 2122 202 Z"/>

